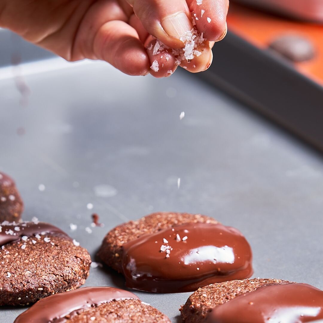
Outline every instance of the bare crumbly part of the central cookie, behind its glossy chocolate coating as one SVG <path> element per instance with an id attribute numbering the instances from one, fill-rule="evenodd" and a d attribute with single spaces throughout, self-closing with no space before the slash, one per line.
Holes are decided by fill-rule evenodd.
<path id="1" fill-rule="evenodd" d="M 211 217 L 201 214 L 153 213 L 138 221 L 130 221 L 112 229 L 105 236 L 98 255 L 108 266 L 121 272 L 122 246 L 127 242 L 137 239 L 144 234 L 156 233 L 162 229 L 187 223 L 217 224 L 218 222 Z"/>

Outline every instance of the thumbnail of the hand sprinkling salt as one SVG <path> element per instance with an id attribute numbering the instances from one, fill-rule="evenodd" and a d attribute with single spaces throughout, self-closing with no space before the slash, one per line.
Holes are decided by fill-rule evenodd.
<path id="1" fill-rule="evenodd" d="M 161 25 L 169 36 L 177 39 L 180 39 L 187 31 L 193 28 L 191 21 L 184 12 L 166 17 L 161 22 Z"/>

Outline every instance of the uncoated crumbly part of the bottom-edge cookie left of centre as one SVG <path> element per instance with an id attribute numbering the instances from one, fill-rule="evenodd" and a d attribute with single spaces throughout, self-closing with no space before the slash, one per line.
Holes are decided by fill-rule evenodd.
<path id="1" fill-rule="evenodd" d="M 124 299 L 89 307 L 68 323 L 171 323 L 169 318 L 156 308 L 143 304 L 138 299 Z"/>

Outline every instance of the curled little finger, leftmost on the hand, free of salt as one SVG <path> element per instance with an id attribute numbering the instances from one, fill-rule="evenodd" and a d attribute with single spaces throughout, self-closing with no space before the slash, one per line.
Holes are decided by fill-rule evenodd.
<path id="1" fill-rule="evenodd" d="M 136 30 L 123 21 L 110 21 L 96 34 L 94 55 L 129 75 L 146 75 L 150 60 Z"/>

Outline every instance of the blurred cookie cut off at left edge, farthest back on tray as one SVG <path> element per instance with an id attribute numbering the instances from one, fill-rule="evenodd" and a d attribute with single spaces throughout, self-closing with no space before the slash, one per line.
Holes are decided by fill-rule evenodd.
<path id="1" fill-rule="evenodd" d="M 19 221 L 24 210 L 24 203 L 14 180 L 0 172 L 0 223 Z"/>

